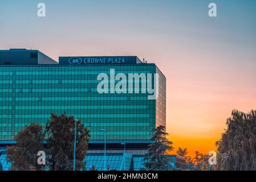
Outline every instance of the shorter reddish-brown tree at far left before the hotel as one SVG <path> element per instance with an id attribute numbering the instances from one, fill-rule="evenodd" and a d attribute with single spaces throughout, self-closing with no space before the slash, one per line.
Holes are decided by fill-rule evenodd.
<path id="1" fill-rule="evenodd" d="M 39 124 L 26 126 L 25 130 L 19 131 L 14 138 L 17 144 L 7 146 L 7 159 L 11 163 L 10 170 L 36 171 L 45 170 L 44 165 L 38 164 L 38 151 L 44 151 L 43 128 Z"/>

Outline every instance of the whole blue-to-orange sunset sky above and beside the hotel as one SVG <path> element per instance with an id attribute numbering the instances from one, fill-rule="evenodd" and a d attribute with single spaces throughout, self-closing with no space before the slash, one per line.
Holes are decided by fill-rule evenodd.
<path id="1" fill-rule="evenodd" d="M 37 16 L 39 2 L 46 17 Z M 217 17 L 208 16 L 210 2 Z M 208 153 L 233 109 L 256 108 L 256 1 L 0 2 L 0 49 L 136 55 L 166 76 L 174 147 Z"/>

